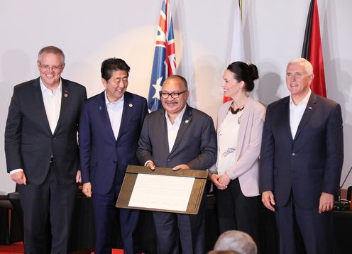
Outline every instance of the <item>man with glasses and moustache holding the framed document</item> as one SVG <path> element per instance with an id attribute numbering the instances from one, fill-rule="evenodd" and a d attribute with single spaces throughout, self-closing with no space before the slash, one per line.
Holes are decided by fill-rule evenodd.
<path id="1" fill-rule="evenodd" d="M 184 77 L 168 77 L 160 96 L 164 109 L 145 118 L 137 150 L 139 162 L 151 170 L 155 166 L 207 170 L 216 162 L 211 117 L 187 105 Z M 154 212 L 153 217 L 158 253 L 204 253 L 204 204 L 197 215 Z"/>

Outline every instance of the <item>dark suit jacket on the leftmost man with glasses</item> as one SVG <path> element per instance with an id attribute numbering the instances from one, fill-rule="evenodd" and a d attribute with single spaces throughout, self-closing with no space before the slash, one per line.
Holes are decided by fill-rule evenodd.
<path id="1" fill-rule="evenodd" d="M 40 79 L 16 85 L 6 121 L 7 171 L 21 168 L 28 183 L 41 184 L 48 175 L 53 155 L 57 180 L 61 184 L 75 182 L 79 167 L 79 114 L 85 99 L 85 87 L 62 79 L 60 116 L 52 133 L 45 113 Z"/>

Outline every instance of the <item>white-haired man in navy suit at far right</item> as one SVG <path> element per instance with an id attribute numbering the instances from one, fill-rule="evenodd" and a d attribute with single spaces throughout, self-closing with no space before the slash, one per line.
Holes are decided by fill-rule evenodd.
<path id="1" fill-rule="evenodd" d="M 280 253 L 332 253 L 332 214 L 343 164 L 341 106 L 309 89 L 313 67 L 287 65 L 290 96 L 267 109 L 260 153 L 260 192 L 275 211 Z"/>

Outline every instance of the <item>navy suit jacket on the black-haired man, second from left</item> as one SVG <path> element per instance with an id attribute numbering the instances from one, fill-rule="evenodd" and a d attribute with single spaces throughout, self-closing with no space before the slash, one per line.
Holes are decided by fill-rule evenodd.
<path id="1" fill-rule="evenodd" d="M 125 92 L 121 126 L 117 140 L 106 109 L 105 94 L 97 94 L 84 104 L 79 121 L 79 155 L 82 182 L 92 183 L 92 191 L 109 192 L 117 176 L 122 184 L 127 165 L 138 165 L 136 150 L 148 106 L 145 98 Z"/>

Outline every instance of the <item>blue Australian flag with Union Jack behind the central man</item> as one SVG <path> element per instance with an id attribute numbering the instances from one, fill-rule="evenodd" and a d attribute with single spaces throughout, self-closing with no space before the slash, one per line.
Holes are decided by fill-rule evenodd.
<path id="1" fill-rule="evenodd" d="M 153 70 L 148 95 L 148 109 L 150 111 L 160 109 L 159 92 L 163 87 L 165 79 L 173 74 L 176 74 L 174 29 L 172 26 L 172 17 L 169 13 L 168 1 L 163 0 L 155 41 Z"/>

